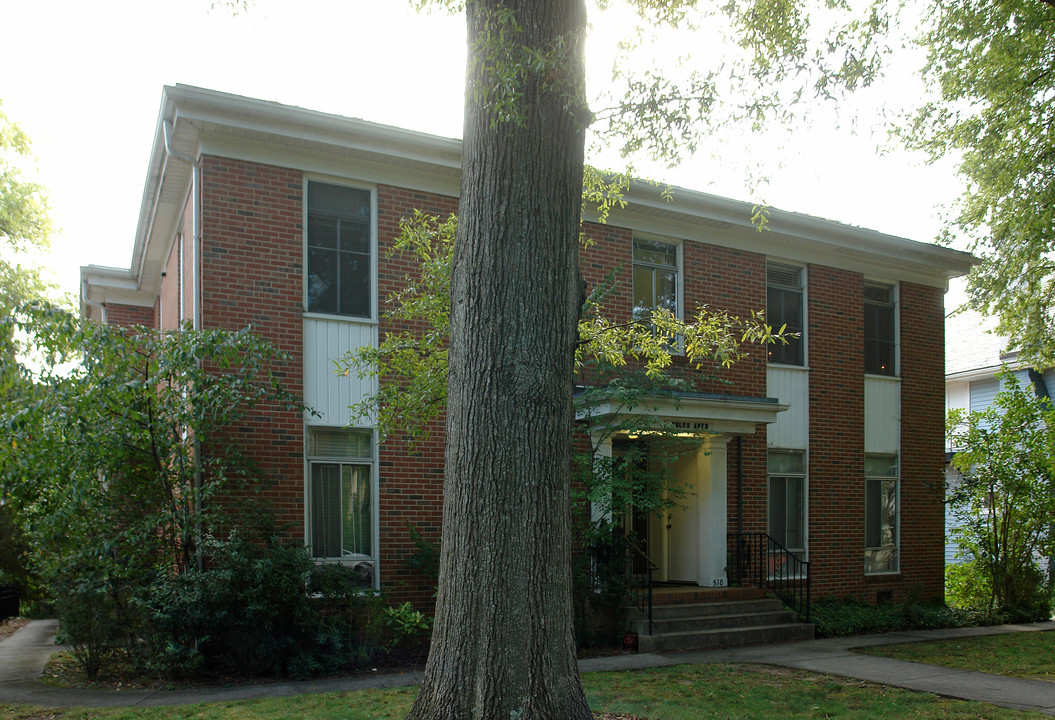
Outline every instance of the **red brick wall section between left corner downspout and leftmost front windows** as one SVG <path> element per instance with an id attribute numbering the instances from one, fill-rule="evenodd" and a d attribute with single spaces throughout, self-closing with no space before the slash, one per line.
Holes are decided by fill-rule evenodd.
<path id="1" fill-rule="evenodd" d="M 202 324 L 254 331 L 294 360 L 280 368 L 303 394 L 303 176 L 300 172 L 202 157 Z M 304 430 L 300 413 L 261 408 L 238 429 L 270 480 L 264 496 L 291 535 L 303 537 Z"/>

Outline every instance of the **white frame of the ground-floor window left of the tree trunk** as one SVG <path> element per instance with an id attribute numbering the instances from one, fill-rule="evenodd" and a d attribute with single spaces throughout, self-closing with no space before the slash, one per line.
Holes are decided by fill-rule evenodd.
<path id="1" fill-rule="evenodd" d="M 312 453 L 311 452 L 311 433 L 314 431 L 347 431 L 349 433 L 360 432 L 369 433 L 369 438 L 367 440 L 369 447 L 369 457 L 348 455 L 348 454 L 323 454 L 323 453 Z M 309 548 L 311 553 L 311 560 L 316 564 L 338 564 L 338 565 L 358 565 L 363 562 L 369 562 L 372 567 L 370 587 L 375 590 L 380 588 L 380 504 L 378 498 L 378 493 L 380 490 L 380 481 L 378 478 L 378 437 L 377 432 L 373 428 L 345 428 L 345 427 L 333 427 L 333 425 L 305 425 L 304 428 L 304 544 Z M 370 492 L 370 554 L 349 554 L 340 556 L 316 556 L 314 554 L 312 546 L 312 533 L 313 533 L 313 515 L 312 515 L 312 491 L 313 491 L 313 469 L 316 466 L 323 465 L 335 465 L 339 467 L 352 466 L 359 468 L 367 468 L 369 472 L 369 492 Z M 343 552 L 343 548 L 342 548 Z"/>

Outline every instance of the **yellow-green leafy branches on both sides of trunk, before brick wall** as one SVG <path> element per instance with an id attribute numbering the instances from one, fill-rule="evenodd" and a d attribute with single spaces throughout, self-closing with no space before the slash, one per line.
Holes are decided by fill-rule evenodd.
<path id="1" fill-rule="evenodd" d="M 403 289 L 387 299 L 383 315 L 392 329 L 376 347 L 359 347 L 338 361 L 342 374 L 380 380 L 377 392 L 351 410 L 361 419 L 375 419 L 382 437 L 401 432 L 411 442 L 421 441 L 446 405 L 450 263 L 457 226 L 455 215 L 441 220 L 420 211 L 401 222 L 392 252 L 408 257 L 418 269 L 405 277 Z M 613 270 L 592 288 L 582 307 L 575 366 L 580 379 L 592 383 L 580 398 L 583 412 L 613 393 L 639 405 L 648 393 L 688 389 L 666 373 L 675 355 L 708 371 L 698 376 L 702 381 L 712 379 L 710 371 L 743 358 L 749 345 L 786 341 L 784 328 L 774 331 L 761 312 L 737 318 L 698 307 L 685 321 L 658 308 L 648 318 L 613 320 L 603 303 L 615 287 L 616 274 Z"/>

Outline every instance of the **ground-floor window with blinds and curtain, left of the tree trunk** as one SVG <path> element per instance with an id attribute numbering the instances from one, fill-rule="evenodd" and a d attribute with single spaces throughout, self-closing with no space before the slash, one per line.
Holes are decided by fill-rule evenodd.
<path id="1" fill-rule="evenodd" d="M 341 560 L 371 584 L 377 557 L 371 433 L 309 428 L 307 455 L 311 555 Z"/>

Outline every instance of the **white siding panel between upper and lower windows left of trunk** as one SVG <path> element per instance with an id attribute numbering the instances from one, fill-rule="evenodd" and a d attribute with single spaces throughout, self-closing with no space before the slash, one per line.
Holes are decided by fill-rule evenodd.
<path id="1" fill-rule="evenodd" d="M 372 395 L 377 383 L 361 380 L 354 373 L 341 377 L 334 371 L 334 360 L 348 350 L 363 345 L 376 346 L 378 327 L 346 320 L 304 319 L 304 402 L 321 417 L 310 418 L 311 424 L 346 425 L 352 420 L 349 405 Z M 357 424 L 372 424 L 373 418 L 357 420 Z"/>

